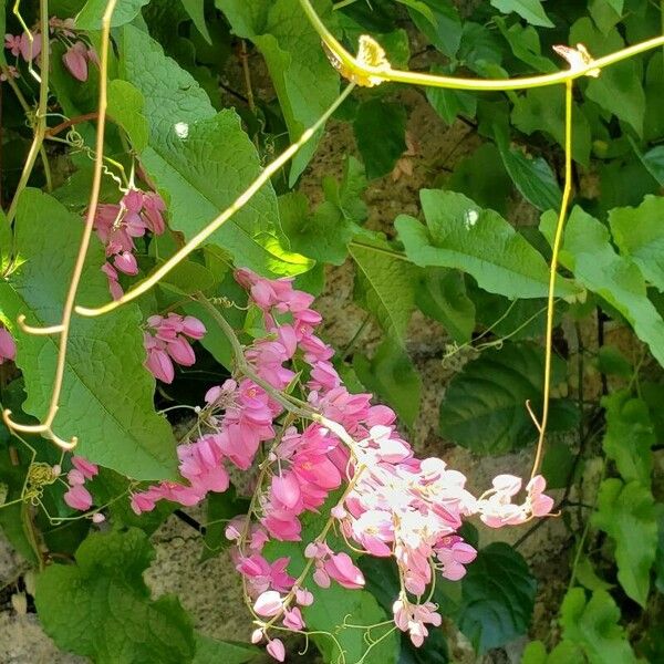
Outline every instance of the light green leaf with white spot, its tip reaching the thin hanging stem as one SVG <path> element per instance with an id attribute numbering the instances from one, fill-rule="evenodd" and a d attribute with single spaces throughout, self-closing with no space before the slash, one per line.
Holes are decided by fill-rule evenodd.
<path id="1" fill-rule="evenodd" d="M 507 298 L 547 295 L 547 262 L 498 212 L 453 191 L 422 189 L 419 197 L 426 227 L 406 215 L 395 221 L 413 262 L 468 272 L 480 288 Z M 557 292 L 573 289 L 559 279 Z"/>

